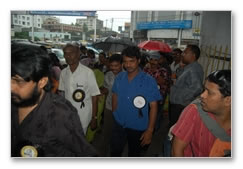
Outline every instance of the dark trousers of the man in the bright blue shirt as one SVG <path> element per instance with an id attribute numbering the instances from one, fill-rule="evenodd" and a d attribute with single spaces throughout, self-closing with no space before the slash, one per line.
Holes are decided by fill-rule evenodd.
<path id="1" fill-rule="evenodd" d="M 140 137 L 144 131 L 123 128 L 114 119 L 111 138 L 111 157 L 121 157 L 126 142 L 128 142 L 128 157 L 141 157 L 148 145 L 140 146 Z"/>

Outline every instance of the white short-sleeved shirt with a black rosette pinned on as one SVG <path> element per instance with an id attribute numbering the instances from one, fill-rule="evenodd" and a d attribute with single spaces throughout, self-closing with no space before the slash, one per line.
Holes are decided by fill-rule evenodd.
<path id="1" fill-rule="evenodd" d="M 92 118 L 92 96 L 100 94 L 94 72 L 79 63 L 77 69 L 72 73 L 68 66 L 61 72 L 58 89 L 65 92 L 65 98 L 78 110 L 84 133 L 86 133 Z M 73 99 L 73 93 L 77 89 L 85 92 L 83 101 L 85 106 L 82 108 L 80 108 L 81 102 Z"/>

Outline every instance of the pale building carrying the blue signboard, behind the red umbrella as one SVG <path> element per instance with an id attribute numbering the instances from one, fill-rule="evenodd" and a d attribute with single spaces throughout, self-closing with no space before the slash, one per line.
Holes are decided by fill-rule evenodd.
<path id="1" fill-rule="evenodd" d="M 198 43 L 201 16 L 197 11 L 132 11 L 130 37 L 137 43 L 154 39 L 177 44 L 181 36 L 183 42 Z"/>

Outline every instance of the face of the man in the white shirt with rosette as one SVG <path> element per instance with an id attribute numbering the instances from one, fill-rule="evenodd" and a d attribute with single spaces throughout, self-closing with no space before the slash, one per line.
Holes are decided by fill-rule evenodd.
<path id="1" fill-rule="evenodd" d="M 66 62 L 69 66 L 76 65 L 79 63 L 80 50 L 78 48 L 70 46 L 65 48 L 63 52 L 64 52 L 64 57 L 66 59 Z"/>

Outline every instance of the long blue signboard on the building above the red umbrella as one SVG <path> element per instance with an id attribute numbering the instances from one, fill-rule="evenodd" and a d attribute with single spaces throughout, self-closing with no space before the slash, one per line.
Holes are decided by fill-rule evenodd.
<path id="1" fill-rule="evenodd" d="M 138 30 L 143 30 L 143 29 L 190 29 L 190 28 L 192 28 L 192 20 L 140 22 L 137 24 Z"/>

